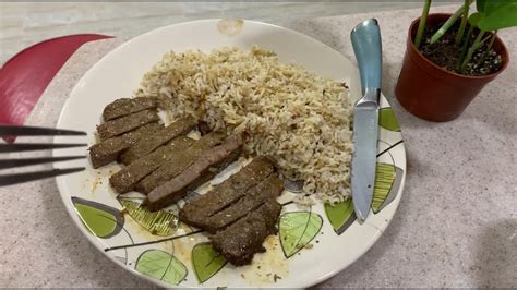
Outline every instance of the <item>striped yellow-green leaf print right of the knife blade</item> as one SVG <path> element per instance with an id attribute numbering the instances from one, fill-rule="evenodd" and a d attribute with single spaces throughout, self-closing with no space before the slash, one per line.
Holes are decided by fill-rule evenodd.
<path id="1" fill-rule="evenodd" d="M 395 181 L 395 166 L 377 162 L 375 168 L 375 185 L 373 189 L 372 209 L 378 213 L 388 197 L 392 185 Z"/>

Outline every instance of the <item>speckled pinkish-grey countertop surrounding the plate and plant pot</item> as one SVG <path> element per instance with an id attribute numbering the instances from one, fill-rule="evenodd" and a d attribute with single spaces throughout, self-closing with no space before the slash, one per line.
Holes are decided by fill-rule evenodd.
<path id="1" fill-rule="evenodd" d="M 358 262 L 317 286 L 517 287 L 517 68 L 447 123 L 406 112 L 394 98 L 406 29 L 419 10 L 296 21 L 287 26 L 353 59 L 349 32 L 378 19 L 383 90 L 399 118 L 408 158 L 399 209 Z M 517 31 L 501 33 L 517 56 Z M 68 94 L 121 43 L 82 47 L 47 88 L 27 123 L 52 126 Z M 43 138 L 45 140 L 45 138 Z M 39 141 L 43 141 L 39 138 Z M 53 180 L 0 189 L 1 287 L 151 287 L 109 262 L 70 220 Z"/>

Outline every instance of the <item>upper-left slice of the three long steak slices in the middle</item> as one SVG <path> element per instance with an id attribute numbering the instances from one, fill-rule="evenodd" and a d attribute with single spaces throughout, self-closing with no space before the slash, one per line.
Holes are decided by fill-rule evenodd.
<path id="1" fill-rule="evenodd" d="M 109 183 L 113 190 L 120 194 L 132 191 L 140 180 L 192 144 L 195 144 L 194 140 L 187 136 L 179 136 L 172 140 L 168 145 L 159 147 L 152 154 L 140 158 L 130 166 L 112 174 L 109 178 Z"/>

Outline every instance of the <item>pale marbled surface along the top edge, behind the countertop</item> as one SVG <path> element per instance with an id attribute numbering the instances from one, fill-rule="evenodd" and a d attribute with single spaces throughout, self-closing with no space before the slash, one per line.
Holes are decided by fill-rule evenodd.
<path id="1" fill-rule="evenodd" d="M 447 0 L 448 2 L 453 0 Z M 455 0 L 458 1 L 458 0 Z M 164 25 L 238 17 L 284 25 L 294 19 L 419 8 L 414 0 L 349 1 L 0 1 L 0 64 L 17 51 L 62 35 L 133 37 Z M 129 3 L 128 3 L 129 2 Z M 445 0 L 433 5 L 447 4 Z M 137 23 L 137 25 L 134 25 Z"/>

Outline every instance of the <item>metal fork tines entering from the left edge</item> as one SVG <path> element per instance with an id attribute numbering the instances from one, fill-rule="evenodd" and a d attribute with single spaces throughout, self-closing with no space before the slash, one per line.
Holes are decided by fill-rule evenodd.
<path id="1" fill-rule="evenodd" d="M 81 136 L 86 135 L 85 132 L 73 130 L 60 130 L 52 128 L 39 126 L 16 126 L 16 125 L 0 125 L 0 136 Z M 0 144 L 0 153 L 20 153 L 20 152 L 35 152 L 46 149 L 59 149 L 87 146 L 87 144 L 80 143 L 14 143 Z M 0 170 L 9 168 L 17 168 L 32 165 L 41 165 L 49 162 L 60 162 L 74 159 L 86 158 L 86 156 L 59 156 L 59 157 L 36 157 L 36 158 L 0 158 Z M 52 178 L 62 174 L 69 174 L 85 170 L 84 167 L 73 168 L 58 168 L 44 171 L 31 171 L 24 173 L 0 173 L 0 186 L 7 186 L 39 179 Z"/>

